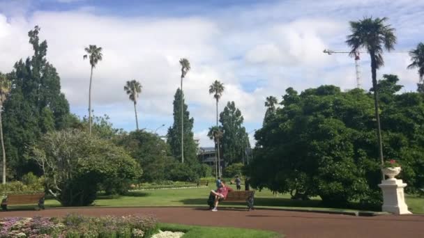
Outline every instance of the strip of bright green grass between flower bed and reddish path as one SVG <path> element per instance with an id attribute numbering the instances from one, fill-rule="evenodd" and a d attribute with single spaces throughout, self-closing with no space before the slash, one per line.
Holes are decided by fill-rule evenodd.
<path id="1" fill-rule="evenodd" d="M 184 232 L 183 238 L 277 238 L 283 237 L 283 235 L 276 232 L 266 230 L 250 230 L 241 228 L 216 228 L 210 226 L 199 226 L 199 225 L 179 225 L 160 223 L 160 230 L 169 230 L 172 232 Z"/>

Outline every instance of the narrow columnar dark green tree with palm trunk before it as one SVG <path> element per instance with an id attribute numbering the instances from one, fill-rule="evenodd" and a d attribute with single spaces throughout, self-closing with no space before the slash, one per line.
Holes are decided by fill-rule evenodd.
<path id="1" fill-rule="evenodd" d="M 194 119 L 190 118 L 188 106 L 184 103 L 184 97 L 181 97 L 181 90 L 177 89 L 174 95 L 174 124 L 169 127 L 167 133 L 167 143 L 171 148 L 171 153 L 175 158 L 181 157 L 181 152 L 184 152 L 185 160 L 191 164 L 199 164 L 197 161 L 197 144 L 193 138 L 193 123 Z M 181 123 L 181 102 L 183 102 L 183 123 Z M 183 125 L 184 136 L 181 136 L 181 125 Z M 181 143 L 181 138 L 184 138 L 184 143 Z M 184 146 L 183 151 L 181 145 Z M 182 159 L 181 159 L 182 161 Z"/>

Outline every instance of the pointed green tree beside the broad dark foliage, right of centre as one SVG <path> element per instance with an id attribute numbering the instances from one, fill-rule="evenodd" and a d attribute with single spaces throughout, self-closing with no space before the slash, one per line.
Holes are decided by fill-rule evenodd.
<path id="1" fill-rule="evenodd" d="M 241 161 L 245 151 L 245 141 L 248 135 L 245 133 L 243 116 L 236 108 L 234 102 L 228 102 L 224 111 L 220 113 L 222 124 L 222 154 L 228 164 Z"/>

